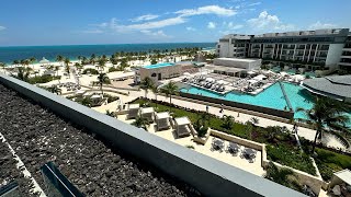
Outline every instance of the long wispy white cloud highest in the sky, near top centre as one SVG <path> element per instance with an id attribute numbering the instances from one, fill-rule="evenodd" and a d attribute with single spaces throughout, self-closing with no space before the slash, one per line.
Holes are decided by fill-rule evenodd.
<path id="1" fill-rule="evenodd" d="M 174 13 L 180 14 L 180 16 L 191 16 L 191 15 L 202 15 L 202 14 L 231 16 L 236 14 L 236 11 L 233 9 L 226 9 L 218 5 L 206 5 L 206 7 L 200 7 L 197 9 L 179 10 Z"/>

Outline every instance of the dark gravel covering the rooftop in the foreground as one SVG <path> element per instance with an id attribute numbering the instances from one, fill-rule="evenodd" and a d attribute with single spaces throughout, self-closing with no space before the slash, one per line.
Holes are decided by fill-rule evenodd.
<path id="1" fill-rule="evenodd" d="M 0 131 L 42 188 L 39 167 L 53 161 L 88 196 L 200 196 L 1 84 Z"/>

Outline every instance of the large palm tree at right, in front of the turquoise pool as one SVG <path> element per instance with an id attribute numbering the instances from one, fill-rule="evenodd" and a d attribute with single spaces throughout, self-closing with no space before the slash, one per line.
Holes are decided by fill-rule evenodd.
<path id="1" fill-rule="evenodd" d="M 316 96 L 314 106 L 310 109 L 298 107 L 296 112 L 303 112 L 307 119 L 298 119 L 312 125 L 316 129 L 316 136 L 313 143 L 312 153 L 315 152 L 317 138 L 321 138 L 322 131 L 332 131 L 339 129 L 340 125 L 346 125 L 349 117 L 343 113 L 350 111 L 344 103 L 329 99 Z"/>

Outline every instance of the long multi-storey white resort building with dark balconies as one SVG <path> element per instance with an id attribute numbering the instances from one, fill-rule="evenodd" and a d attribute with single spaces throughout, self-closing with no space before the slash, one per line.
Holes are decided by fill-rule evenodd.
<path id="1" fill-rule="evenodd" d="M 295 61 L 336 68 L 351 68 L 349 28 L 267 33 L 262 35 L 229 34 L 216 46 L 219 57 L 262 58 Z"/>

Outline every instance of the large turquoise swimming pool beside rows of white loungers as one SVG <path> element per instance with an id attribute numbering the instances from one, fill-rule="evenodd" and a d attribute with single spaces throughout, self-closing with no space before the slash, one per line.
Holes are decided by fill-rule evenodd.
<path id="1" fill-rule="evenodd" d="M 308 93 L 307 90 L 304 88 L 292 84 L 292 83 L 282 83 L 285 90 L 285 93 L 290 100 L 290 103 L 295 112 L 294 118 L 306 118 L 304 113 L 296 113 L 296 108 L 312 108 L 313 107 L 313 99 L 312 95 Z M 181 89 L 181 92 L 188 92 L 191 94 L 200 94 L 204 96 L 220 99 L 220 100 L 227 100 L 227 101 L 234 101 L 238 103 L 245 103 L 245 104 L 251 104 L 251 105 L 258 105 L 258 106 L 264 106 L 269 108 L 274 109 L 284 109 L 287 108 L 287 102 L 285 101 L 285 97 L 283 95 L 282 89 L 279 83 L 274 83 L 270 88 L 265 89 L 263 92 L 257 94 L 257 95 L 250 95 L 246 93 L 239 93 L 239 92 L 229 92 L 225 95 L 216 94 L 211 91 L 199 89 L 199 88 L 190 88 L 188 89 Z M 348 114 L 348 116 L 351 118 L 351 113 Z M 349 126 L 351 123 L 348 124 Z"/>

